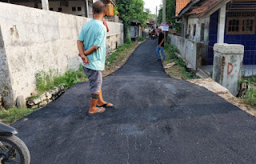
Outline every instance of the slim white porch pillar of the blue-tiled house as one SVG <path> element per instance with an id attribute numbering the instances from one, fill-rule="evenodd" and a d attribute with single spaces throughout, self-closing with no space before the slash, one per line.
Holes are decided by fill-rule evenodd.
<path id="1" fill-rule="evenodd" d="M 225 24 L 226 24 L 226 4 L 222 6 L 218 14 L 218 43 L 224 43 L 225 34 Z"/>

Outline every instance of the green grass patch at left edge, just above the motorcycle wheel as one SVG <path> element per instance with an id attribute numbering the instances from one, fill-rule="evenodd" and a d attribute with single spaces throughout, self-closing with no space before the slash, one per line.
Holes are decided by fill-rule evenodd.
<path id="1" fill-rule="evenodd" d="M 17 107 L 11 108 L 9 110 L 0 110 L 0 118 L 1 122 L 6 123 L 6 124 L 11 124 L 16 122 L 18 119 L 25 117 L 28 114 L 31 114 L 37 109 L 28 109 L 28 108 L 23 108 L 19 109 Z"/>

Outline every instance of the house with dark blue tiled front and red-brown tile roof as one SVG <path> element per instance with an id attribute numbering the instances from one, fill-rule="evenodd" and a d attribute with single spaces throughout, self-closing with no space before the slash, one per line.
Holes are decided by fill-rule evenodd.
<path id="1" fill-rule="evenodd" d="M 205 47 L 201 50 L 202 65 L 213 64 L 215 43 L 229 43 L 245 46 L 243 65 L 256 67 L 256 0 L 177 0 L 176 3 L 176 16 L 182 18 L 182 38 Z"/>

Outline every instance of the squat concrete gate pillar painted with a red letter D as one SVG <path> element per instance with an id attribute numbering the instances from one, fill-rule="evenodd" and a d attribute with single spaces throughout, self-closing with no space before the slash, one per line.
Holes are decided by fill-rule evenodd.
<path id="1" fill-rule="evenodd" d="M 244 46 L 242 45 L 214 44 L 213 79 L 230 90 L 234 96 L 238 94 L 238 80 L 242 75 L 243 54 Z"/>

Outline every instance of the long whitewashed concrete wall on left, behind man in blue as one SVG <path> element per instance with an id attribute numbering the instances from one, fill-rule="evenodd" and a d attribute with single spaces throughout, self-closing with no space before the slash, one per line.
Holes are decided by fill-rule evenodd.
<path id="1" fill-rule="evenodd" d="M 78 69 L 76 41 L 89 18 L 3 2 L 0 2 L 0 8 L 4 42 L 0 44 L 4 45 L 0 46 L 0 93 L 8 88 L 9 95 L 13 95 L 3 99 L 15 102 L 19 95 L 30 96 L 39 70 L 58 69 L 64 73 L 67 69 Z M 106 45 L 109 51 L 114 50 L 116 42 L 122 44 L 123 25 L 116 22 L 108 22 L 108 25 L 110 33 L 107 34 Z M 10 87 L 5 87 L 7 84 Z M 9 106 L 7 103 L 4 105 Z"/>

